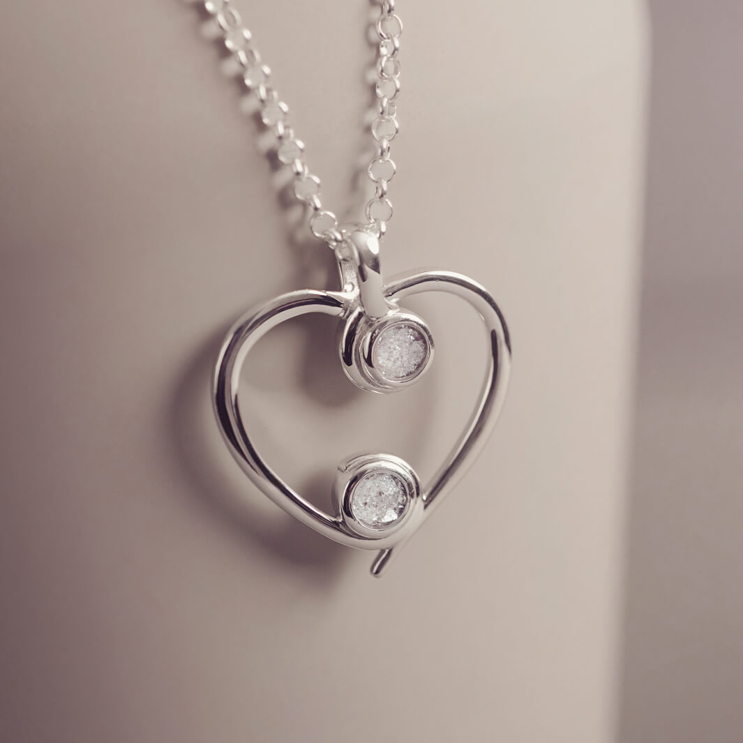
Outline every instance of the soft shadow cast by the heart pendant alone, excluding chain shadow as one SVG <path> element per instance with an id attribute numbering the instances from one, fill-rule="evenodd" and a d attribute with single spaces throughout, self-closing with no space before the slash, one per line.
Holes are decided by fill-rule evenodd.
<path id="1" fill-rule="evenodd" d="M 305 324 L 308 334 L 305 375 L 301 386 L 329 408 L 337 409 L 356 395 L 364 395 L 340 371 L 330 324 Z M 348 562 L 348 548 L 321 536 L 267 499 L 233 461 L 218 432 L 211 406 L 214 363 L 227 328 L 221 328 L 194 354 L 177 380 L 167 411 L 170 438 L 179 467 L 189 474 L 187 493 L 198 498 L 227 531 L 251 542 L 281 562 L 311 574 L 319 585 L 337 582 Z M 319 332 L 318 332 L 319 331 Z M 325 339 L 320 342 L 317 335 Z M 326 348 L 330 344 L 331 348 Z M 433 376 L 433 375 L 432 375 Z M 253 380 L 253 383 L 255 380 Z M 431 398 L 435 384 L 429 384 Z M 257 393 L 259 394 L 259 392 Z M 422 406 L 420 428 L 411 430 L 409 448 L 423 452 L 428 445 L 433 406 Z M 258 421 L 257 425 L 262 425 Z M 424 433 L 421 433 L 424 432 Z M 299 492 L 317 507 L 328 510 L 333 473 L 311 472 L 299 482 Z M 371 552 L 370 552 L 371 555 Z"/>

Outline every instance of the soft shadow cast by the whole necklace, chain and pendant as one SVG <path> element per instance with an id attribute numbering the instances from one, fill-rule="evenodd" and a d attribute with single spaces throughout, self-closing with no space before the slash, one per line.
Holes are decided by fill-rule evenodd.
<path id="1" fill-rule="evenodd" d="M 195 13 L 202 32 L 208 30 L 211 19 L 204 7 L 196 4 L 190 10 Z M 205 42 L 203 37 L 204 33 L 202 43 L 208 47 L 210 42 Z M 265 129 L 259 123 L 255 97 L 245 93 L 244 85 L 234 70 L 225 68 L 224 62 L 230 55 L 224 44 L 215 40 L 212 46 L 218 49 L 221 56 L 225 77 L 239 90 L 240 108 L 253 122 L 257 147 L 266 155 L 273 169 L 270 184 L 276 192 L 288 228 L 286 245 L 292 276 L 286 282 L 287 288 L 290 291 L 291 288 L 337 289 L 339 280 L 334 253 L 309 235 L 307 215 L 301 207 L 298 208 L 297 201 L 291 194 L 291 172 L 285 166 L 280 166 L 276 160 L 275 141 L 266 136 Z M 370 70 L 373 70 L 374 65 L 374 46 L 370 42 Z M 371 114 L 374 113 L 374 100 L 372 96 L 365 121 L 367 128 L 373 118 Z M 366 199 L 364 184 L 368 184 L 366 168 L 369 163 L 369 138 L 365 137 L 365 140 L 367 144 L 360 147 L 357 169 L 351 184 L 351 203 L 348 204 L 355 212 L 360 211 L 358 204 Z M 323 407 L 335 411 L 357 400 L 359 395 L 368 394 L 354 387 L 343 374 L 338 360 L 334 323 L 328 322 L 327 317 L 306 314 L 293 319 L 292 324 L 299 327 L 302 334 L 303 361 L 298 382 L 302 392 Z M 280 327 L 273 332 L 280 334 L 281 330 Z M 224 328 L 215 333 L 195 352 L 184 369 L 184 374 L 175 384 L 169 406 L 168 422 L 175 441 L 175 455 L 181 467 L 191 475 L 194 484 L 189 492 L 198 496 L 215 518 L 221 519 L 225 528 L 236 533 L 239 538 L 248 536 L 276 559 L 293 566 L 301 565 L 305 571 L 311 572 L 318 583 L 334 583 L 346 562 L 344 555 L 348 554 L 348 548 L 320 536 L 270 502 L 236 467 L 230 452 L 221 441 L 210 406 L 210 385 L 218 349 L 226 331 L 227 328 Z M 435 373 L 429 372 L 427 376 L 432 380 Z M 250 381 L 258 392 L 262 385 L 276 383 L 276 380 L 260 376 L 253 376 Z M 420 455 L 426 449 L 432 435 L 432 426 L 429 424 L 432 421 L 435 383 L 429 381 L 426 395 L 429 402 L 421 406 L 419 424 L 410 433 L 409 448 L 414 455 Z M 261 421 L 256 421 L 256 426 L 261 425 Z M 310 473 L 300 483 L 299 490 L 308 501 L 316 505 L 325 504 L 329 499 L 328 485 L 331 478 L 332 473 Z M 371 554 L 373 553 L 370 551 L 370 562 Z"/>

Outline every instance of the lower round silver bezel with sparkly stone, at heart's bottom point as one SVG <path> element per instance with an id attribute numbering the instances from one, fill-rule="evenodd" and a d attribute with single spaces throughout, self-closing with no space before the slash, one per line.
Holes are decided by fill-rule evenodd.
<path id="1" fill-rule="evenodd" d="M 340 464 L 334 493 L 345 525 L 376 539 L 402 528 L 421 502 L 418 476 L 389 454 L 356 455 Z"/>

